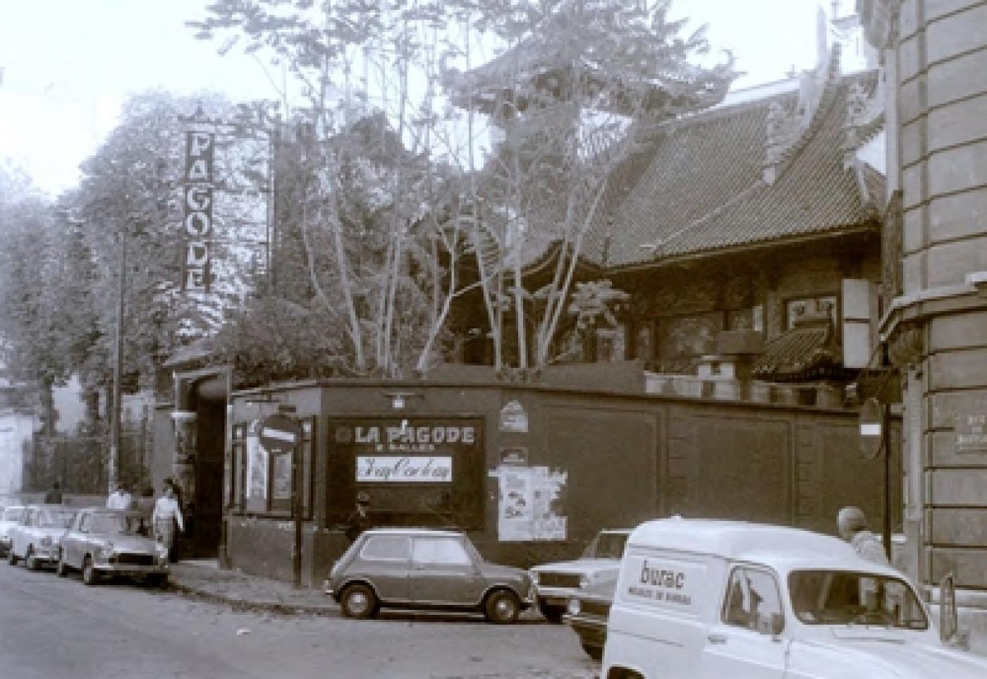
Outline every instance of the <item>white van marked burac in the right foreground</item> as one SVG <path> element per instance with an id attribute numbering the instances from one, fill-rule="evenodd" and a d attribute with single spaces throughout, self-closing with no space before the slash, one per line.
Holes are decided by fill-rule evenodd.
<path id="1" fill-rule="evenodd" d="M 836 538 L 670 518 L 631 534 L 604 679 L 987 677 L 894 568 Z"/>

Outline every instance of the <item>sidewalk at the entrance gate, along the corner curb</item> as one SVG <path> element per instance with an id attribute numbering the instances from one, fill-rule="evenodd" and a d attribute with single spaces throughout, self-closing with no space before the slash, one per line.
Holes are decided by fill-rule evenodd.
<path id="1" fill-rule="evenodd" d="M 171 566 L 172 589 L 240 610 L 281 614 L 336 615 L 340 607 L 318 589 L 294 589 L 290 583 L 224 570 L 214 559 Z"/>

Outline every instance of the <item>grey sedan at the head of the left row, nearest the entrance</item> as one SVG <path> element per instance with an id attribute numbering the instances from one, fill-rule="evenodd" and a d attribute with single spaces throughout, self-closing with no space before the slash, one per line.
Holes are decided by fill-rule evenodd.
<path id="1" fill-rule="evenodd" d="M 168 581 L 168 549 L 148 535 L 149 519 L 139 511 L 83 509 L 62 538 L 58 575 L 79 570 L 85 584 L 126 575 L 163 585 Z"/>

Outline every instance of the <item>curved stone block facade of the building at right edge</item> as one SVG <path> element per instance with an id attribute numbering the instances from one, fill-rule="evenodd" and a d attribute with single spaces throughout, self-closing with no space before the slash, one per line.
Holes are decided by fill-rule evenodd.
<path id="1" fill-rule="evenodd" d="M 987 3 L 863 4 L 884 48 L 887 188 L 903 196 L 903 294 L 881 334 L 907 385 L 907 569 L 930 590 L 954 572 L 962 602 L 987 589 Z M 967 614 L 987 647 L 987 609 Z"/>

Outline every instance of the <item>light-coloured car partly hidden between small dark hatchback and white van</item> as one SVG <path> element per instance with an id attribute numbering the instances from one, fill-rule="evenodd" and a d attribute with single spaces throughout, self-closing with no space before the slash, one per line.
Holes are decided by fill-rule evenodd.
<path id="1" fill-rule="evenodd" d="M 581 587 L 614 576 L 624 555 L 630 529 L 605 529 L 571 562 L 543 564 L 531 568 L 538 610 L 551 623 L 561 623 L 569 598 Z"/>

